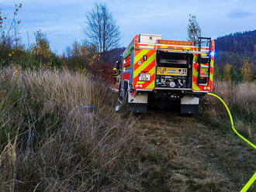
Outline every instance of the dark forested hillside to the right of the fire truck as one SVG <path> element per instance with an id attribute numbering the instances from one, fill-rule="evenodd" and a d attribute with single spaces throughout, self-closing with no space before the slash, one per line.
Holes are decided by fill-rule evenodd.
<path id="1" fill-rule="evenodd" d="M 256 30 L 215 39 L 216 78 L 228 81 L 256 79 Z"/>

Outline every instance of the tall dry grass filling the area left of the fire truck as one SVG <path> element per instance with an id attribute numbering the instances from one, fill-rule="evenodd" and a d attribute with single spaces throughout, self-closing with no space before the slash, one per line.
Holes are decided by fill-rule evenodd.
<path id="1" fill-rule="evenodd" d="M 136 126 L 107 84 L 67 70 L 0 78 L 0 191 L 140 190 Z"/>

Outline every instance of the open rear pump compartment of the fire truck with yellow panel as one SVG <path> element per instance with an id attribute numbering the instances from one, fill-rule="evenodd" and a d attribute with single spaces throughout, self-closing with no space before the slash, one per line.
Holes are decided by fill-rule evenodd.
<path id="1" fill-rule="evenodd" d="M 192 87 L 192 53 L 169 53 L 157 50 L 155 87 L 188 89 Z"/>

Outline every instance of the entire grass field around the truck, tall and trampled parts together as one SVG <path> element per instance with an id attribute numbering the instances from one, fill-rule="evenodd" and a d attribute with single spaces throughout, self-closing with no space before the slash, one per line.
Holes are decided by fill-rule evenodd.
<path id="1" fill-rule="evenodd" d="M 134 116 L 116 113 L 109 85 L 85 74 L 10 67 L 0 78 L 1 191 L 229 192 L 256 170 L 255 151 L 215 98 L 203 98 L 193 117 Z M 254 143 L 255 91 L 254 83 L 214 89 Z"/>

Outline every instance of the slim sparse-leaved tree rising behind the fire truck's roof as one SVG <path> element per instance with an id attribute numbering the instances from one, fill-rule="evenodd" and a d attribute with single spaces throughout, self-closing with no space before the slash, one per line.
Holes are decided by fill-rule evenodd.
<path id="1" fill-rule="evenodd" d="M 199 42 L 200 36 L 201 36 L 201 28 L 195 18 L 195 15 L 189 15 L 188 40 L 196 44 Z"/>

